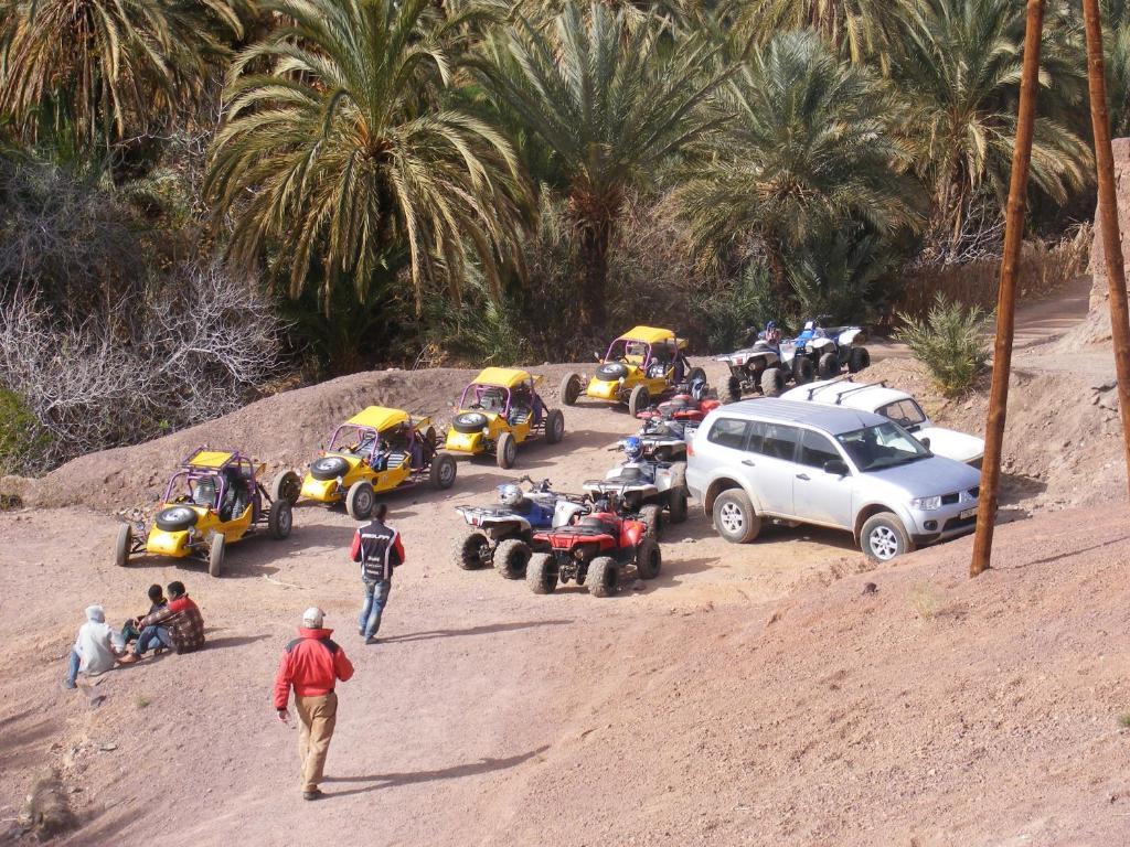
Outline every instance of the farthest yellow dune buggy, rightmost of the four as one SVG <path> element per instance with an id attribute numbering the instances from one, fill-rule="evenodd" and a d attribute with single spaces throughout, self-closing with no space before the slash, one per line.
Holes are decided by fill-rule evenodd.
<path id="1" fill-rule="evenodd" d="M 635 326 L 609 344 L 603 356 L 596 353 L 600 364 L 588 387 L 579 374 L 565 375 L 562 402 L 573 405 L 584 387 L 584 396 L 623 403 L 634 417 L 678 385 L 706 382 L 702 368 L 690 367 L 683 352 L 686 346 L 686 339 L 671 330 Z"/>

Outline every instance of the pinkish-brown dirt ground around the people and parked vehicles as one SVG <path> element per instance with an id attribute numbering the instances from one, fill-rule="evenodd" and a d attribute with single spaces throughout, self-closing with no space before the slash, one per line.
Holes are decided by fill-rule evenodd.
<path id="1" fill-rule="evenodd" d="M 533 369 L 555 386 L 566 367 Z M 409 561 L 379 645 L 356 635 L 340 512 L 299 506 L 289 540 L 233 545 L 221 579 L 113 566 L 112 513 L 151 505 L 197 444 L 296 464 L 368 402 L 410 394 L 450 414 L 467 375 L 346 377 L 27 486 L 42 505 L 0 514 L 0 832 L 51 766 L 79 815 L 60 839 L 73 845 L 1130 842 L 1122 507 L 1000 527 L 997 569 L 973 583 L 968 539 L 872 570 L 846 535 L 773 529 L 739 548 L 694 510 L 661 576 L 614 599 L 455 568 L 454 505 L 522 473 L 575 490 L 615 461 L 632 421 L 590 405 L 513 472 L 464 461 L 451 491 L 389 499 Z M 1076 472 L 1048 488 L 1078 488 Z M 84 606 L 121 621 L 172 579 L 208 647 L 64 691 Z M 301 798 L 297 733 L 270 704 L 311 604 L 357 667 L 318 803 Z"/>

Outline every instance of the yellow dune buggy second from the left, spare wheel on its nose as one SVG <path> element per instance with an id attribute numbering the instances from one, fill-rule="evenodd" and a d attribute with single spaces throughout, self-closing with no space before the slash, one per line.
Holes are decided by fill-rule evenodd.
<path id="1" fill-rule="evenodd" d="M 431 421 L 371 405 L 333 431 L 304 479 L 299 481 L 294 471 L 276 477 L 271 496 L 292 505 L 299 498 L 331 506 L 344 503 L 349 517 L 364 521 L 376 495 L 425 479 L 441 490 L 455 482 L 455 460 L 436 449 Z"/>

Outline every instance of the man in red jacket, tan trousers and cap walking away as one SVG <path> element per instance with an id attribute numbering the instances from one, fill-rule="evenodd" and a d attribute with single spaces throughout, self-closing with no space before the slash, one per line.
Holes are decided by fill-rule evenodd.
<path id="1" fill-rule="evenodd" d="M 286 646 L 275 676 L 275 708 L 284 724 L 290 719 L 286 704 L 294 688 L 294 710 L 301 724 L 298 758 L 305 800 L 322 796 L 318 784 L 322 781 L 325 754 L 338 717 L 338 696 L 333 687 L 338 680 L 345 682 L 353 676 L 353 664 L 346 652 L 330 640 L 333 630 L 322 629 L 323 617 L 318 606 L 306 610 L 298 637 Z"/>

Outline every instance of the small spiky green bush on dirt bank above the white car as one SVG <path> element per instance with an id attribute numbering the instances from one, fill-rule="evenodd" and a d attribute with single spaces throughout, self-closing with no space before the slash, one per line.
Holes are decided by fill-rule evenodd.
<path id="1" fill-rule="evenodd" d="M 925 365 L 942 394 L 955 398 L 976 382 L 989 361 L 989 315 L 980 306 L 935 298 L 924 321 L 899 314 L 903 328 L 895 339 L 905 343 Z"/>

